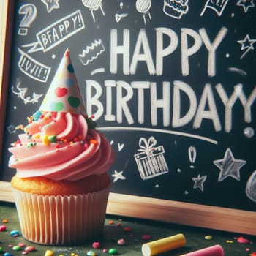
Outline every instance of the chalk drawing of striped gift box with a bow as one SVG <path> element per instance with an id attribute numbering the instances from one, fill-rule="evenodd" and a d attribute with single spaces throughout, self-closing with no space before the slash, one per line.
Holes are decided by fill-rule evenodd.
<path id="1" fill-rule="evenodd" d="M 154 178 L 156 176 L 169 172 L 165 161 L 165 148 L 157 146 L 157 140 L 151 136 L 148 140 L 140 138 L 138 151 L 141 153 L 135 154 L 135 161 L 143 180 Z"/>

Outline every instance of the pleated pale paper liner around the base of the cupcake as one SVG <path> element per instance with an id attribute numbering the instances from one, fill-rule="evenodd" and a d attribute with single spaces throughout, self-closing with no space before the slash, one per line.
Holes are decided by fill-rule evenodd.
<path id="1" fill-rule="evenodd" d="M 110 187 L 86 195 L 34 195 L 12 188 L 24 238 L 37 244 L 82 244 L 102 236 Z"/>

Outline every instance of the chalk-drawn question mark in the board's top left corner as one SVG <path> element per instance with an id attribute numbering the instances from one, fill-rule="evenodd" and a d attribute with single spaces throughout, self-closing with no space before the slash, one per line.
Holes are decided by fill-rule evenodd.
<path id="1" fill-rule="evenodd" d="M 37 7 L 34 4 L 23 4 L 18 13 L 24 15 L 23 19 L 20 21 L 20 29 L 18 34 L 20 36 L 26 36 L 28 34 L 28 28 L 30 28 L 31 23 L 37 17 Z"/>

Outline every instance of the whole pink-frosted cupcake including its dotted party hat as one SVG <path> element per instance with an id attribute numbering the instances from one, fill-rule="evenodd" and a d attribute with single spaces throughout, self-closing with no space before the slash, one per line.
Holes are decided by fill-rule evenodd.
<path id="1" fill-rule="evenodd" d="M 99 239 L 115 154 L 86 115 L 69 50 L 28 121 L 9 148 L 9 167 L 17 170 L 11 185 L 21 233 L 38 244 Z"/>

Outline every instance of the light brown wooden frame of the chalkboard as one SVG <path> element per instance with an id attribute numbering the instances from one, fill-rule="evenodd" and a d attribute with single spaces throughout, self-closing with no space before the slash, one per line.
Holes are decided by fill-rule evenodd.
<path id="1" fill-rule="evenodd" d="M 0 1 L 0 157 L 4 135 L 4 118 L 11 55 L 14 0 Z M 10 182 L 0 181 L 0 200 L 14 202 Z M 256 235 L 256 212 L 195 203 L 154 199 L 110 193 L 108 214 L 154 219 L 195 227 L 207 227 L 236 233 Z"/>

